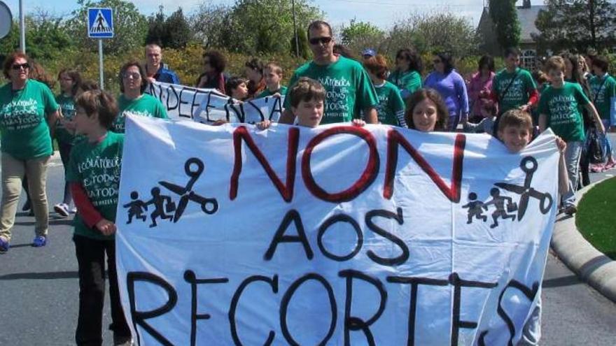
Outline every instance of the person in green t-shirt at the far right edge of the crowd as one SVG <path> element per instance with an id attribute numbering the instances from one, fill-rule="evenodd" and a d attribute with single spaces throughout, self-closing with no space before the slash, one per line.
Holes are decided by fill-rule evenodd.
<path id="1" fill-rule="evenodd" d="M 590 92 L 594 106 L 601 117 L 605 132 L 610 130 L 616 121 L 616 80 L 608 74 L 610 62 L 605 57 L 595 57 L 592 60 L 592 70 L 594 76 L 589 80 Z M 612 143 L 606 135 L 601 136 L 603 149 L 607 161 L 605 166 L 598 167 L 601 171 L 610 169 L 616 165 L 616 161 L 612 156 Z"/>

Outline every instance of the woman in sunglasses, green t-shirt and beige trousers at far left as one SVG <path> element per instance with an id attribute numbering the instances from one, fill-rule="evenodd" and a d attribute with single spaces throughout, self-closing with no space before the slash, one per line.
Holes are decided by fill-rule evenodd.
<path id="1" fill-rule="evenodd" d="M 29 68 L 29 58 L 22 52 L 10 54 L 3 65 L 4 76 L 9 82 L 0 87 L 0 252 L 6 252 L 9 247 L 24 175 L 28 176 L 36 219 L 32 246 L 41 247 L 47 243 L 46 173 L 53 153 L 51 136 L 59 107 L 49 87 L 29 78 Z"/>

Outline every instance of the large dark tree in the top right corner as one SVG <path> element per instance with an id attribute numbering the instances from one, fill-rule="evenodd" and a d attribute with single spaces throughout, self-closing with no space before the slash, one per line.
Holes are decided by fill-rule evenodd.
<path id="1" fill-rule="evenodd" d="M 607 0 L 546 0 L 535 21 L 539 34 L 531 34 L 543 50 L 585 52 L 616 43 L 616 7 Z"/>

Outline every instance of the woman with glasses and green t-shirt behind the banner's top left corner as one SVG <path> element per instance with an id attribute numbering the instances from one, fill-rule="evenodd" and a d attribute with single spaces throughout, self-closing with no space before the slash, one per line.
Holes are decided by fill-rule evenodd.
<path id="1" fill-rule="evenodd" d="M 111 131 L 123 134 L 126 115 L 141 115 L 144 117 L 160 117 L 167 119 L 167 109 L 154 96 L 144 94 L 148 87 L 146 69 L 139 62 L 127 62 L 120 69 L 120 97 L 118 108 L 120 113 L 113 122 Z"/>

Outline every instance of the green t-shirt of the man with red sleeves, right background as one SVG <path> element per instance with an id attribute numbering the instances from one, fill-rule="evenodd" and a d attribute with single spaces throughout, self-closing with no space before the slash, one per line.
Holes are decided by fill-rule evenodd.
<path id="1" fill-rule="evenodd" d="M 511 82 L 512 78 L 515 78 L 513 82 Z M 510 83 L 512 84 L 507 89 L 507 85 L 510 85 Z M 517 68 L 514 73 L 507 72 L 507 69 L 496 73 L 492 82 L 492 89 L 498 95 L 498 112 L 503 114 L 507 110 L 528 103 L 529 94 L 537 89 L 537 86 L 530 72 Z M 505 89 L 507 89 L 506 92 Z"/>

